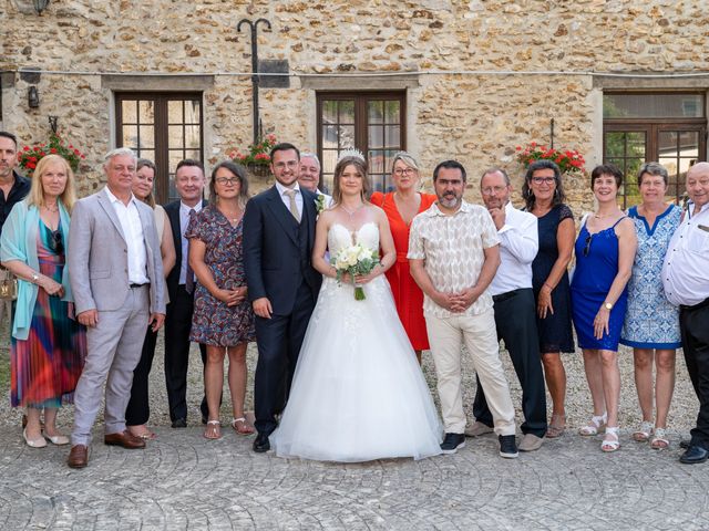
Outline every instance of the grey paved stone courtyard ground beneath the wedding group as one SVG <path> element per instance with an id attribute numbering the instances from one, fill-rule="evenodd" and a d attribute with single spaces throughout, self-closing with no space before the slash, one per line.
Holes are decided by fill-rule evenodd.
<path id="1" fill-rule="evenodd" d="M 6 348 L 0 352 L 7 355 Z M 681 355 L 668 450 L 630 440 L 638 417 L 628 353 L 620 363 L 620 450 L 604 455 L 599 437 L 576 435 L 589 398 L 580 356 L 572 355 L 565 358 L 569 429 L 538 451 L 504 460 L 489 435 L 467 439 L 453 456 L 362 465 L 256 455 L 253 437 L 237 436 L 228 425 L 220 440 L 204 439 L 198 363 L 188 384 L 189 427 L 169 428 L 161 360 L 158 351 L 151 376 L 157 440 L 145 450 L 107 447 L 97 425 L 83 470 L 66 467 L 66 447 L 27 447 L 20 412 L 7 407 L 7 389 L 1 389 L 0 530 L 709 529 L 709 464 L 677 460 L 678 440 L 697 412 Z M 431 371 L 424 356 L 433 384 Z M 518 404 L 514 377 L 511 385 Z M 466 404 L 473 392 L 469 383 Z M 226 406 L 222 418 L 225 425 L 230 418 Z M 60 414 L 65 433 L 70 423 L 71 408 L 65 408 Z"/>

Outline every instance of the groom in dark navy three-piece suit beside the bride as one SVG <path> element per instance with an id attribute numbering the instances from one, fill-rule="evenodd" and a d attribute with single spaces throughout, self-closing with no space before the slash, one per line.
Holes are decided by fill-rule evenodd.
<path id="1" fill-rule="evenodd" d="M 298 186 L 300 153 L 292 144 L 270 152 L 276 184 L 251 198 L 244 214 L 244 266 L 256 314 L 258 363 L 254 451 L 270 449 L 268 436 L 286 406 L 300 345 L 322 282 L 310 263 L 316 195 Z"/>

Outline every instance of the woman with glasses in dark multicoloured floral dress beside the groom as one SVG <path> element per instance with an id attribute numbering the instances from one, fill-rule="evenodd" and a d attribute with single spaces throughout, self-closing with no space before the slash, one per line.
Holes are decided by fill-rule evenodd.
<path id="1" fill-rule="evenodd" d="M 189 266 L 199 281 L 189 341 L 207 345 L 204 387 L 209 418 L 204 436 L 218 439 L 222 437 L 219 397 L 227 353 L 232 427 L 237 434 L 254 433 L 244 415 L 246 346 L 256 335 L 242 248 L 244 207 L 248 198 L 246 171 L 232 162 L 219 163 L 212 171 L 209 192 L 215 201 L 195 216 L 185 237 L 189 238 Z"/>

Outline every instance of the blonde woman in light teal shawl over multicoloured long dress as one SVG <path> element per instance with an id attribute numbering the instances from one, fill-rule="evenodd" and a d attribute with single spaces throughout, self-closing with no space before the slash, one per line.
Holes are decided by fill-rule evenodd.
<path id="1" fill-rule="evenodd" d="M 37 165 L 28 197 L 11 210 L 0 238 L 0 261 L 18 278 L 10 348 L 11 403 L 25 407 L 22 431 L 32 448 L 66 445 L 56 410 L 71 403 L 86 353 L 85 330 L 73 315 L 69 271 L 74 176 L 66 160 L 48 155 Z M 44 429 L 40 424 L 44 410 Z"/>

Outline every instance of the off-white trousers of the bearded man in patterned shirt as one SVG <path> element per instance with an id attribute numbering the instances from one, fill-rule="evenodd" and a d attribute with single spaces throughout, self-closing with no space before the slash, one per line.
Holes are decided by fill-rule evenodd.
<path id="1" fill-rule="evenodd" d="M 500 362 L 500 344 L 492 309 L 480 315 L 452 317 L 425 316 L 429 342 L 441 400 L 441 415 L 446 434 L 465 430 L 463 389 L 461 388 L 461 347 L 463 343 L 473 358 L 471 371 L 477 371 L 492 413 L 495 434 L 514 435 L 514 406 L 510 386 Z"/>

